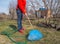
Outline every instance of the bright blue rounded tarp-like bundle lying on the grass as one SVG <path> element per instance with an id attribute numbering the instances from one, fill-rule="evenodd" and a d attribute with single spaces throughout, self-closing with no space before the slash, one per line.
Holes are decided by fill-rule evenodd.
<path id="1" fill-rule="evenodd" d="M 40 40 L 41 38 L 43 38 L 43 34 L 39 30 L 34 29 L 29 32 L 28 40 L 36 41 Z"/>

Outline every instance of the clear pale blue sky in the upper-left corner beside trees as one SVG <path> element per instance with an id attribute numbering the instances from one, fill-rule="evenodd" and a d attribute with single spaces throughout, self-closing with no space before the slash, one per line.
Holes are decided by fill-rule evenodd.
<path id="1" fill-rule="evenodd" d="M 8 13 L 8 5 L 11 0 L 0 0 L 0 13 Z"/>

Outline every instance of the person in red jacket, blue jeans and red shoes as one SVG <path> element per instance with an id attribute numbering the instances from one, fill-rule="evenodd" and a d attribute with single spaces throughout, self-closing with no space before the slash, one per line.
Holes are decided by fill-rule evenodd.
<path id="1" fill-rule="evenodd" d="M 20 33 L 23 33 L 24 28 L 22 27 L 22 18 L 23 14 L 26 15 L 26 0 L 17 0 L 16 13 L 18 31 Z"/>

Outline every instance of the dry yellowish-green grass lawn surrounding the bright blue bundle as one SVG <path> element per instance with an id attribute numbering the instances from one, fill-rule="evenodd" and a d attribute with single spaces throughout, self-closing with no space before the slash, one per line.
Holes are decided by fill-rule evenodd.
<path id="1" fill-rule="evenodd" d="M 33 24 L 36 24 L 38 21 L 32 21 Z M 9 27 L 9 25 L 15 25 L 17 27 L 17 22 L 15 20 L 10 21 L 4 21 L 0 22 L 0 33 L 3 31 L 6 31 L 7 33 L 12 33 L 14 30 Z M 29 22 L 23 21 L 23 26 L 25 27 L 24 35 L 20 34 L 19 32 L 13 33 L 11 38 L 14 39 L 14 41 L 17 42 L 25 42 L 27 41 L 26 35 L 28 32 L 32 29 Z M 60 31 L 56 31 L 53 28 L 44 28 L 44 27 L 38 27 L 36 25 L 33 25 L 35 29 L 38 29 L 44 34 L 44 37 L 39 41 L 27 41 L 27 44 L 60 44 Z M 12 42 L 7 36 L 0 35 L 0 44 L 15 44 Z"/>

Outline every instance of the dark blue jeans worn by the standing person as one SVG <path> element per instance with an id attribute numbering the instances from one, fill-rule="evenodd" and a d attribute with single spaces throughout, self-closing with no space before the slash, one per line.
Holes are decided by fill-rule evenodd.
<path id="1" fill-rule="evenodd" d="M 21 30 L 22 29 L 22 17 L 23 17 L 23 14 L 21 12 L 21 10 L 18 8 L 16 10 L 17 12 L 17 24 L 18 24 L 18 30 Z"/>

